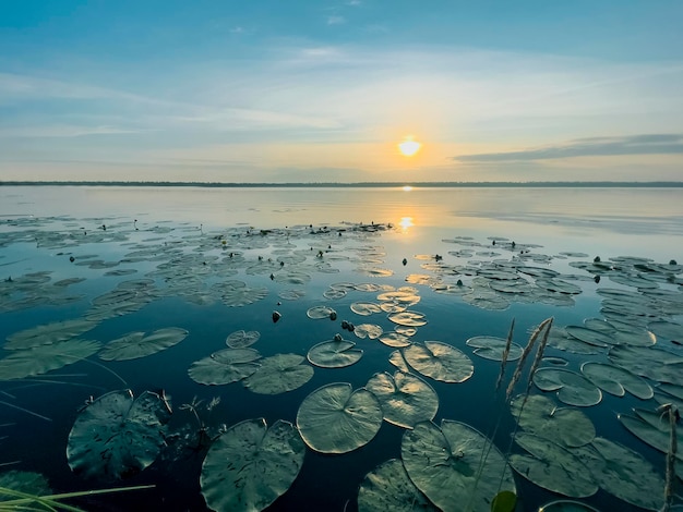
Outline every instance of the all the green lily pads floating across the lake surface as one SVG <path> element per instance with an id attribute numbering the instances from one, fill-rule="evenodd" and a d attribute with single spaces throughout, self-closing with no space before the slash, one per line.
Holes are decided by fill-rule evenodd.
<path id="1" fill-rule="evenodd" d="M 56 224 L 62 228 L 56 231 Z M 298 320 L 332 322 L 336 331 L 332 339 L 309 340 L 304 353 L 273 353 L 276 340 L 239 329 L 220 333 L 225 348 L 206 351 L 181 368 L 195 383 L 228 395 L 233 386 L 275 395 L 305 387 L 316 373 L 327 379 L 310 390 L 292 420 L 268 425 L 256 417 L 212 430 L 199 447 L 205 453 L 201 490 L 212 510 L 269 507 L 296 480 L 307 450 L 327 456 L 351 452 L 369 444 L 384 422 L 405 430 L 400 458 L 386 460 L 359 478 L 357 497 L 349 497 L 359 510 L 513 510 L 514 501 L 505 505 L 499 497 L 514 496 L 518 478 L 572 500 L 602 490 L 620 502 L 661 509 L 670 485 L 663 462 L 657 466 L 633 447 L 643 441 L 671 452 L 671 425 L 657 406 L 683 405 L 683 266 L 637 257 L 601 260 L 583 253 L 548 256 L 531 244 L 460 236 L 443 241 L 459 246 L 447 256 L 415 255 L 424 273 L 409 273 L 405 283 L 397 283 L 378 244 L 380 233 L 387 230 L 386 224 L 343 224 L 240 227 L 211 233 L 195 227 L 154 225 L 140 231 L 136 224 L 116 220 L 85 230 L 75 219 L 15 219 L 11 229 L 0 232 L 0 248 L 31 245 L 38 253 L 57 255 L 63 267 L 55 281 L 56 272 L 48 270 L 0 281 L 0 314 L 85 301 L 87 307 L 79 318 L 10 333 L 2 344 L 0 382 L 39 382 L 46 374 L 83 361 L 109 368 L 106 365 L 112 362 L 153 357 L 176 346 L 192 332 L 159 327 L 106 340 L 88 337 L 103 322 L 164 298 L 225 306 L 226 315 L 268 297 L 274 307 L 281 301 L 302 302 Z M 104 244 L 124 252 L 106 261 L 79 254 L 85 243 L 88 251 Z M 578 273 L 551 269 L 553 260 L 566 260 Z M 327 278 L 343 269 L 366 282 Z M 143 276 L 128 279 L 141 270 Z M 82 287 L 93 272 L 111 284 L 89 296 Z M 391 283 L 382 282 L 390 278 Z M 332 282 L 311 296 L 315 281 Z M 547 355 L 535 367 L 525 393 L 512 402 L 491 402 L 487 414 L 493 418 L 493 430 L 506 417 L 514 420 L 508 446 L 496 446 L 495 431 L 481 432 L 457 417 L 442 416 L 434 423 L 440 411 L 435 388 L 470 379 L 476 371 L 470 356 L 489 362 L 482 364 L 501 363 L 504 369 L 506 363 L 523 363 L 526 354 L 512 336 L 467 340 L 453 336 L 446 341 L 422 336 L 420 328 L 429 318 L 419 305 L 426 294 L 452 295 L 454 304 L 488 310 L 504 310 L 514 303 L 567 307 L 585 293 L 582 283 L 595 288 L 601 318 L 554 325 L 546 350 L 556 355 Z M 372 373 L 357 388 L 334 377 L 333 370 L 358 364 L 368 349 L 384 354 L 395 370 Z M 491 382 L 491 392 L 493 387 Z M 603 393 L 642 402 L 619 414 L 619 422 L 635 436 L 633 447 L 598 436 L 584 412 L 599 404 Z M 3 405 L 22 409 L 7 401 L 0 402 Z M 196 416 L 196 407 L 185 409 Z M 145 390 L 135 397 L 127 383 L 88 399 L 74 412 L 69 434 L 71 470 L 104 481 L 144 471 L 171 443 L 173 414 L 165 392 Z M 682 436 L 679 430 L 681 441 Z M 674 453 L 674 459 L 681 478 L 683 456 Z M 0 505 L 2 487 L 12 487 L 2 478 L 0 474 Z M 4 478 L 24 477 L 5 473 Z M 570 500 L 542 510 L 568 510 L 562 509 L 565 505 L 595 510 Z"/>

